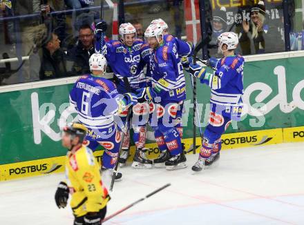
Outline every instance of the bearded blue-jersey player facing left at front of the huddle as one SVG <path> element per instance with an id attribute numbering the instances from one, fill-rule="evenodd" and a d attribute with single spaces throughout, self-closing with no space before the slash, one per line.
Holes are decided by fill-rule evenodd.
<path id="1" fill-rule="evenodd" d="M 151 101 L 150 125 L 162 151 L 158 159 L 154 160 L 154 165 L 166 166 L 168 170 L 185 168 L 186 157 L 176 129 L 180 124 L 183 101 L 186 98 L 182 63 L 175 43 L 164 41 L 160 26 L 151 24 L 144 36 L 153 50 L 149 57 L 151 86 L 138 90 L 137 97 L 139 101 Z"/>

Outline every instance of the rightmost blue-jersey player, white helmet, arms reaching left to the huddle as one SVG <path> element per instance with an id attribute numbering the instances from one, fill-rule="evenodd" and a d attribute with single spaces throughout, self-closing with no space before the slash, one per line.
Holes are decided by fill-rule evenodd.
<path id="1" fill-rule="evenodd" d="M 218 37 L 218 48 L 224 57 L 220 60 L 210 59 L 207 63 L 216 69 L 213 74 L 206 72 L 205 67 L 190 64 L 189 72 L 211 88 L 209 123 L 198 161 L 192 166 L 193 171 L 200 171 L 219 159 L 220 137 L 231 120 L 240 120 L 243 109 L 244 58 L 235 55 L 234 49 L 237 46 L 238 35 L 234 32 L 224 32 Z"/>

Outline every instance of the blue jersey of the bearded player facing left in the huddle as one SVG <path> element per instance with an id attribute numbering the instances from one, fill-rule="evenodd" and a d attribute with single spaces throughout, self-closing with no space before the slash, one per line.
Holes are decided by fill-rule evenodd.
<path id="1" fill-rule="evenodd" d="M 167 35 L 164 39 L 166 37 Z M 149 57 L 149 67 L 151 86 L 162 100 L 186 99 L 184 72 L 175 41 L 164 41 L 153 50 Z"/>

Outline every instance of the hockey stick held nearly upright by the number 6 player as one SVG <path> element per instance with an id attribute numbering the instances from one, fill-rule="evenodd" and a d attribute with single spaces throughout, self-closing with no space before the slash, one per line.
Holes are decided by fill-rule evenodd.
<path id="1" fill-rule="evenodd" d="M 128 92 L 132 92 L 131 86 L 129 84 L 129 80 L 128 80 L 127 77 L 124 77 L 124 84 L 126 86 L 126 90 Z M 124 125 L 124 128 L 122 129 L 122 140 L 120 141 L 120 150 L 118 151 L 117 160 L 115 162 L 115 167 L 114 167 L 113 175 L 112 175 L 112 179 L 111 179 L 111 186 L 110 186 L 111 191 L 113 190 L 115 177 L 117 175 L 117 168 L 118 168 L 118 164 L 119 164 L 118 159 L 120 158 L 120 153 L 122 152 L 122 145 L 124 143 L 124 136 L 126 135 L 126 133 L 128 131 L 128 128 L 129 128 L 129 120 L 130 120 L 130 117 L 131 117 L 131 112 L 132 112 L 132 106 L 130 106 L 128 108 L 128 113 L 126 114 L 126 124 Z"/>

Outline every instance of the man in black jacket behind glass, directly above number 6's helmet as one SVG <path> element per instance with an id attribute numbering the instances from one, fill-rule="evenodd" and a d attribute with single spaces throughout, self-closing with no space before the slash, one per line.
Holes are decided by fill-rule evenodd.
<path id="1" fill-rule="evenodd" d="M 91 26 L 85 24 L 79 28 L 77 46 L 68 50 L 68 59 L 73 61 L 73 75 L 82 75 L 90 72 L 88 59 L 95 52 L 94 32 Z"/>

